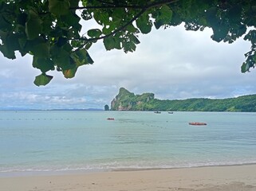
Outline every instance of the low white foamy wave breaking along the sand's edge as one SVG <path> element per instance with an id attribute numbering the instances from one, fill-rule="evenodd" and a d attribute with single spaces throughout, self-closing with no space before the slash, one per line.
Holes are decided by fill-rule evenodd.
<path id="1" fill-rule="evenodd" d="M 203 166 L 240 166 L 256 164 L 256 161 L 244 162 L 108 162 L 90 165 L 64 165 L 64 166 L 16 166 L 0 168 L 0 176 L 5 174 L 34 174 L 34 173 L 70 173 L 70 172 L 104 172 L 129 170 L 161 170 L 192 168 Z"/>

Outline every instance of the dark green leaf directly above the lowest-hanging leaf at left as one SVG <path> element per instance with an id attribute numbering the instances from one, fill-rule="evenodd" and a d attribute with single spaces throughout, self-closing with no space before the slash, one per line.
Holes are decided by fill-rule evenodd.
<path id="1" fill-rule="evenodd" d="M 54 70 L 54 63 L 47 58 L 33 57 L 33 68 L 38 68 L 42 73 L 45 73 Z"/>

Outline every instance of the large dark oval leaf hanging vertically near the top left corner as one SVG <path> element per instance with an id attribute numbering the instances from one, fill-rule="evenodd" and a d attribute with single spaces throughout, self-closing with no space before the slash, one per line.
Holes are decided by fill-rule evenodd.
<path id="1" fill-rule="evenodd" d="M 29 40 L 33 40 L 34 38 L 38 37 L 41 33 L 41 19 L 38 17 L 38 14 L 35 13 L 33 10 L 29 11 L 29 18 L 26 21 L 26 36 Z"/>

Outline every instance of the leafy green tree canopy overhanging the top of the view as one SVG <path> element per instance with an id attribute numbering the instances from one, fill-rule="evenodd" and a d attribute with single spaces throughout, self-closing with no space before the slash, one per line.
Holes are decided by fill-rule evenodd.
<path id="1" fill-rule="evenodd" d="M 81 21 L 98 28 L 81 33 Z M 256 64 L 255 0 L 0 0 L 0 51 L 15 59 L 15 51 L 33 56 L 41 70 L 34 84 L 48 84 L 57 70 L 73 78 L 77 68 L 93 64 L 90 47 L 103 40 L 106 50 L 136 50 L 139 33 L 184 23 L 187 30 L 213 30 L 212 40 L 251 42 L 242 72 Z M 171 35 L 171 34 L 170 34 Z"/>

